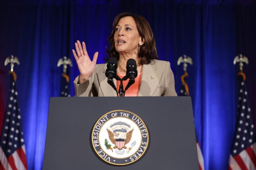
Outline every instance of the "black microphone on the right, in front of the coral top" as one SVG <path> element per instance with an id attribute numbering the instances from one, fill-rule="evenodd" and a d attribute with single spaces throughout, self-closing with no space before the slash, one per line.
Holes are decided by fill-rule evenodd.
<path id="1" fill-rule="evenodd" d="M 126 63 L 126 76 L 129 78 L 129 82 L 125 87 L 125 91 L 135 82 L 135 78 L 138 75 L 137 64 L 136 61 L 130 58 Z"/>

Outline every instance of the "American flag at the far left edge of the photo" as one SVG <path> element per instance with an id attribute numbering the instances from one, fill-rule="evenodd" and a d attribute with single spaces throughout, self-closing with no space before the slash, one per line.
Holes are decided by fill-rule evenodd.
<path id="1" fill-rule="evenodd" d="M 0 169 L 27 169 L 26 151 L 21 128 L 17 91 L 11 74 L 10 92 L 0 140 Z"/>

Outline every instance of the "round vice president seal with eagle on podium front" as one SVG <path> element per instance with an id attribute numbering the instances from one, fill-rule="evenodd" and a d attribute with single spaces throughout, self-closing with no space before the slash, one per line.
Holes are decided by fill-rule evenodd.
<path id="1" fill-rule="evenodd" d="M 99 118 L 94 125 L 91 140 L 101 159 L 114 165 L 127 165 L 145 153 L 148 131 L 139 116 L 117 110 Z"/>

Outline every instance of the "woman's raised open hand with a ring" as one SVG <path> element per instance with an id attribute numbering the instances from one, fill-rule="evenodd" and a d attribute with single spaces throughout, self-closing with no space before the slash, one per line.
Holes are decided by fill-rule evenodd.
<path id="1" fill-rule="evenodd" d="M 93 61 L 90 60 L 88 56 L 85 43 L 82 43 L 83 48 L 79 40 L 75 43 L 75 50 L 72 49 L 75 61 L 77 63 L 78 69 L 80 71 L 79 81 L 80 83 L 85 82 L 91 77 L 91 74 L 95 71 L 96 61 L 98 58 L 98 52 L 93 56 Z M 76 55 L 77 54 L 77 55 Z"/>

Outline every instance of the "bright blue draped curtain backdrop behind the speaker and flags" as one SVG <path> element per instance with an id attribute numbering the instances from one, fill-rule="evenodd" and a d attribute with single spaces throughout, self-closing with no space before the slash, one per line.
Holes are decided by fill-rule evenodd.
<path id="1" fill-rule="evenodd" d="M 115 16 L 131 12 L 150 23 L 159 60 L 171 62 L 175 88 L 181 87 L 183 54 L 193 58 L 188 85 L 205 169 L 227 169 L 237 108 L 237 72 L 234 56 L 249 59 L 244 67 L 252 114 L 256 117 L 256 2 L 254 0 L 2 0 L 0 2 L 0 97 L 6 105 L 9 87 L 7 56 L 18 56 L 15 66 L 18 103 L 26 144 L 28 168 L 43 164 L 50 97 L 60 96 L 59 58 L 70 57 L 69 88 L 79 70 L 71 49 L 77 39 L 86 42 L 89 56 L 105 47 Z M 72 113 L 70 113 L 72 114 Z M 1 120 L 1 119 L 0 119 Z M 254 121 L 256 122 L 256 121 Z"/>

